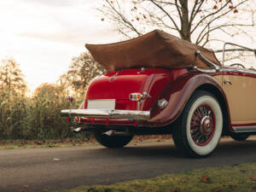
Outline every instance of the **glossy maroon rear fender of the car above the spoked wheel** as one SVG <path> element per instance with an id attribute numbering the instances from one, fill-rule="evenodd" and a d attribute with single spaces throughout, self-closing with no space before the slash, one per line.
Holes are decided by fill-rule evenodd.
<path id="1" fill-rule="evenodd" d="M 151 109 L 151 119 L 148 122 L 148 126 L 170 125 L 183 112 L 183 108 L 195 90 L 200 88 L 203 89 L 204 85 L 207 84 L 216 88 L 223 97 L 222 99 L 224 100 L 225 105 L 223 110 L 226 110 L 229 121 L 228 124 L 230 125 L 230 109 L 224 90 L 222 90 L 218 81 L 207 74 L 186 73 L 172 81 L 166 86 L 166 89 L 163 90 L 159 99 L 165 98 L 168 101 L 168 105 L 166 108 L 160 109 L 157 107 L 157 102 L 154 103 L 154 106 Z M 214 93 L 212 94 L 215 95 Z"/>

